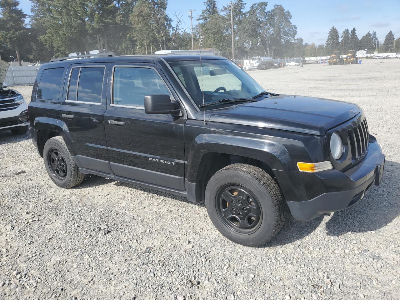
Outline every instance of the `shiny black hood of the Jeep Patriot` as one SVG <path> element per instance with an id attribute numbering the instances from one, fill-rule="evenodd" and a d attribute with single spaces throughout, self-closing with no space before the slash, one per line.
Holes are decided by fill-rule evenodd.
<path id="1" fill-rule="evenodd" d="M 325 135 L 360 113 L 356 104 L 306 96 L 279 95 L 206 111 L 209 121 Z"/>

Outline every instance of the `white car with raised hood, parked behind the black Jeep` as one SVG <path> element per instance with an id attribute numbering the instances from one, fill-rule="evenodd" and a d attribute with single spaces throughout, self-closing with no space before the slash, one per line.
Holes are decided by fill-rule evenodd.
<path id="1" fill-rule="evenodd" d="M 4 83 L 9 66 L 0 60 L 0 131 L 11 130 L 13 134 L 25 134 L 29 126 L 28 106 L 19 92 L 7 88 Z"/>

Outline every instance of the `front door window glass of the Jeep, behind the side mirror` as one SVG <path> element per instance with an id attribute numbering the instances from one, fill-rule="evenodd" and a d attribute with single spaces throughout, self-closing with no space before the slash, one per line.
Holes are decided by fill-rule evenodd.
<path id="1" fill-rule="evenodd" d="M 112 103 L 144 106 L 144 96 L 170 94 L 160 75 L 150 68 L 116 67 L 112 89 Z"/>

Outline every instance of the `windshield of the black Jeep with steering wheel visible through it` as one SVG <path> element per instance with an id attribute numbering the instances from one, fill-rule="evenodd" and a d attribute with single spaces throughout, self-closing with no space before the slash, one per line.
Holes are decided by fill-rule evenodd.
<path id="1" fill-rule="evenodd" d="M 198 108 L 203 104 L 226 99 L 252 98 L 264 89 L 238 65 L 230 60 L 200 60 L 170 62 L 172 70 L 185 86 Z M 236 102 L 221 102 L 234 105 Z M 214 106 L 205 107 L 212 109 Z"/>

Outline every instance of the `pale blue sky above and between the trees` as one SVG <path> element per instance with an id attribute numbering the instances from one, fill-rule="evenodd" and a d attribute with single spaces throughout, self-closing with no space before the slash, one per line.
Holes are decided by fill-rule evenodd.
<path id="1" fill-rule="evenodd" d="M 217 2 L 218 8 L 227 5 L 229 0 Z M 253 3 L 260 1 L 248 0 L 246 10 Z M 324 44 L 328 32 L 335 26 L 339 34 L 348 28 L 356 27 L 358 38 L 368 31 L 376 30 L 380 40 L 384 40 L 389 30 L 392 30 L 395 38 L 400 36 L 400 1 L 383 0 L 381 2 L 365 0 L 356 1 L 322 1 L 322 0 L 278 0 L 268 1 L 268 7 L 275 4 L 282 5 L 292 14 L 292 24 L 297 26 L 296 38 L 303 38 L 305 43 Z M 26 14 L 30 14 L 30 1 L 20 0 L 20 7 Z M 195 10 L 195 18 L 204 9 L 203 1 L 168 0 L 167 13 L 172 18 L 173 13 L 183 13 L 185 28 L 190 26 L 188 10 Z M 196 19 L 193 19 L 193 22 Z M 190 31 L 190 28 L 188 29 Z"/>

